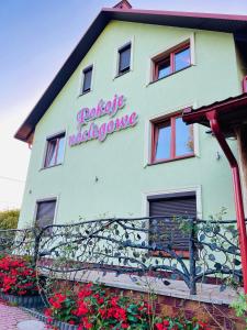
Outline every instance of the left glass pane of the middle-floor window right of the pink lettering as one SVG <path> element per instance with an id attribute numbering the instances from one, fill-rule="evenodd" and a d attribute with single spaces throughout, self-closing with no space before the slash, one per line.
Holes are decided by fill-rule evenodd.
<path id="1" fill-rule="evenodd" d="M 170 158 L 170 139 L 171 139 L 171 128 L 167 123 L 161 128 L 157 128 L 156 136 L 156 154 L 155 160 L 166 160 Z"/>

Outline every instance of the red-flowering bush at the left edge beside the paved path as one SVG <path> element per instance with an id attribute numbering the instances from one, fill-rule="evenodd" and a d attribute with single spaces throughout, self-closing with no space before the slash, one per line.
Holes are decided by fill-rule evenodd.
<path id="1" fill-rule="evenodd" d="M 1 257 L 0 290 L 16 296 L 37 295 L 36 272 L 31 263 L 19 256 Z"/>

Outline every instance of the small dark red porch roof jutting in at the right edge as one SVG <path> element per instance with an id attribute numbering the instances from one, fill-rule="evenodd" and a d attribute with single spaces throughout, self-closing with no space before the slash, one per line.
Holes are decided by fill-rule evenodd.
<path id="1" fill-rule="evenodd" d="M 198 109 L 188 108 L 182 120 L 188 123 L 200 123 L 210 128 L 206 114 L 215 111 L 222 132 L 225 136 L 235 136 L 235 130 L 247 123 L 247 92 Z"/>

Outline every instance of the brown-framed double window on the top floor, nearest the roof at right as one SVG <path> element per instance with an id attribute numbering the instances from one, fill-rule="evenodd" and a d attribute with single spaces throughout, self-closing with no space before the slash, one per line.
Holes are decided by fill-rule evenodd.
<path id="1" fill-rule="evenodd" d="M 153 81 L 182 70 L 190 65 L 190 44 L 182 45 L 169 53 L 166 52 L 153 59 Z"/>

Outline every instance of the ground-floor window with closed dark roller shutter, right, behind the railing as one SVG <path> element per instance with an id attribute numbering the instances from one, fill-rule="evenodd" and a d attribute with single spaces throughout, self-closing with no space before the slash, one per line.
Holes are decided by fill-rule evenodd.
<path id="1" fill-rule="evenodd" d="M 189 250 L 189 233 L 180 229 L 182 219 L 197 218 L 197 198 L 194 191 L 166 194 L 148 197 L 150 219 L 149 244 L 162 249 L 169 245 L 177 251 Z"/>

